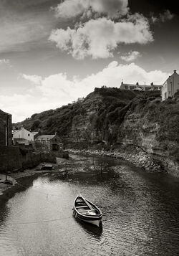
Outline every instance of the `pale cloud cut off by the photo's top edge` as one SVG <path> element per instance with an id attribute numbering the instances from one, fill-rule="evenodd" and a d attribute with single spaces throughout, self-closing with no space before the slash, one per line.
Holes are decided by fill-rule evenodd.
<path id="1" fill-rule="evenodd" d="M 91 10 L 113 18 L 128 12 L 128 0 L 65 0 L 55 8 L 58 18 L 72 19 Z"/>

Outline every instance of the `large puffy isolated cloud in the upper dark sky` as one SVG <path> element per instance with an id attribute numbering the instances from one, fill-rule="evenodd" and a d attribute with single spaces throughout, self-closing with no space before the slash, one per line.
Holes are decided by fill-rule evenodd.
<path id="1" fill-rule="evenodd" d="M 150 32 L 147 19 L 135 14 L 122 22 L 114 22 L 103 17 L 91 19 L 74 29 L 54 29 L 49 40 L 76 59 L 97 59 L 112 57 L 112 52 L 121 43 L 152 42 L 153 34 Z"/>

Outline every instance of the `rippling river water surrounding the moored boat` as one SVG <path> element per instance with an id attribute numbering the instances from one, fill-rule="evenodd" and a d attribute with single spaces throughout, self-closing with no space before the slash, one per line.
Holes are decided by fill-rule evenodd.
<path id="1" fill-rule="evenodd" d="M 179 181 L 115 159 L 94 171 L 19 182 L 0 208 L 1 256 L 179 255 Z M 106 173 L 110 169 L 110 172 Z M 29 182 L 29 183 L 28 183 Z M 78 193 L 97 204 L 102 227 L 72 217 Z"/>

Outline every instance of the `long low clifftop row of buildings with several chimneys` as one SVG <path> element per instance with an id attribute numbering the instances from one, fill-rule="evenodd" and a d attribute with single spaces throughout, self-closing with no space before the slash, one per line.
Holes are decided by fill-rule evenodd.
<path id="1" fill-rule="evenodd" d="M 153 82 L 151 82 L 150 85 L 140 85 L 138 82 L 136 84 L 125 84 L 124 82 L 121 82 L 120 89 L 122 90 L 161 90 L 163 85 L 154 85 Z"/>

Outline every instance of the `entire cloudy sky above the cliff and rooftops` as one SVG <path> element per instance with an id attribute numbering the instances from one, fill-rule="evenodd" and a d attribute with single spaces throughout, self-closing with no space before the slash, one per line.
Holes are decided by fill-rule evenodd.
<path id="1" fill-rule="evenodd" d="M 177 1 L 1 0 L 0 109 L 13 122 L 179 69 Z"/>

